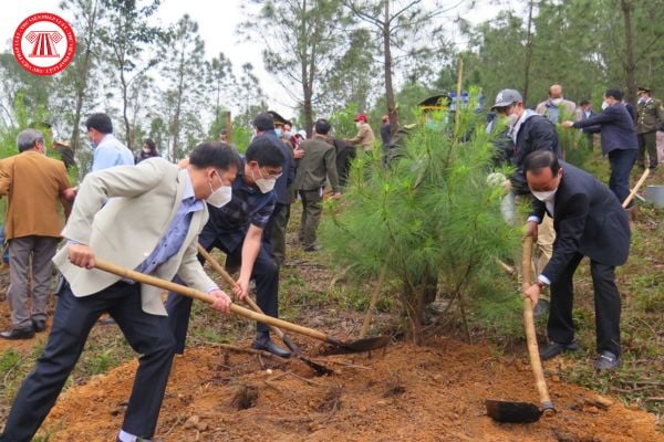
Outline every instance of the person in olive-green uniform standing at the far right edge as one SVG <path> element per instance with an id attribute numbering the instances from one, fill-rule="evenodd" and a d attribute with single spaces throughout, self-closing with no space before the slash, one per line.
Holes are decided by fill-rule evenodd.
<path id="1" fill-rule="evenodd" d="M 657 127 L 664 124 L 664 106 L 650 95 L 649 87 L 639 87 L 636 103 L 636 135 L 639 137 L 639 166 L 645 169 L 647 151 L 650 169 L 657 167 Z"/>

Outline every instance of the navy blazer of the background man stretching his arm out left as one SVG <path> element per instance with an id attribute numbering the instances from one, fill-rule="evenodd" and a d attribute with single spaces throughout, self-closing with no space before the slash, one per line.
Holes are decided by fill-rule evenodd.
<path id="1" fill-rule="evenodd" d="M 581 129 L 595 125 L 600 126 L 602 133 L 602 152 L 604 155 L 615 149 L 639 148 L 634 120 L 621 103 L 606 107 L 600 115 L 574 122 L 573 127 Z"/>

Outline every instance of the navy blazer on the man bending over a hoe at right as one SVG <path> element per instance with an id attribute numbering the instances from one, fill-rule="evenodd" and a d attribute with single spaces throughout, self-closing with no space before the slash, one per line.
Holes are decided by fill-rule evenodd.
<path id="1" fill-rule="evenodd" d="M 629 116 L 627 116 L 629 117 Z M 630 254 L 630 220 L 615 194 L 592 175 L 560 161 L 562 178 L 553 202 L 556 242 L 542 274 L 557 281 L 574 254 L 621 265 Z M 543 219 L 546 204 L 533 199 L 531 215 Z"/>

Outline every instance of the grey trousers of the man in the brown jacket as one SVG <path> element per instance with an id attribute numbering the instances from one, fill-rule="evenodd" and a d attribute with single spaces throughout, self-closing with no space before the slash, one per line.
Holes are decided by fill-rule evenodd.
<path id="1" fill-rule="evenodd" d="M 32 327 L 32 320 L 45 320 L 53 263 L 60 239 L 52 236 L 22 236 L 9 240 L 9 288 L 7 301 L 13 328 Z M 32 265 L 30 265 L 32 257 Z M 28 275 L 32 273 L 32 291 Z M 28 306 L 29 298 L 32 306 Z"/>

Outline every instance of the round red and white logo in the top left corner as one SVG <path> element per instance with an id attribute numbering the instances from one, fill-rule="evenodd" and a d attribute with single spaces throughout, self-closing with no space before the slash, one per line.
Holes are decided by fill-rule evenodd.
<path id="1" fill-rule="evenodd" d="M 19 24 L 12 48 L 25 71 L 35 75 L 54 75 L 74 59 L 76 38 L 72 27 L 62 18 L 40 12 Z"/>

